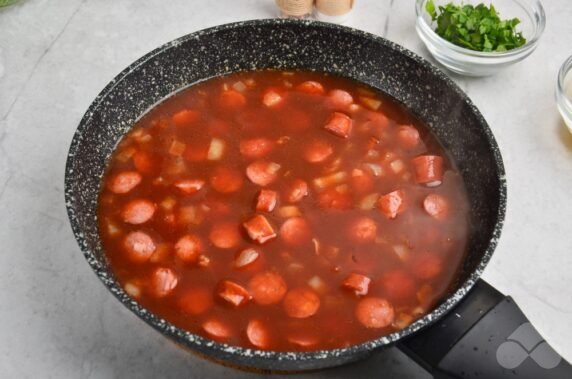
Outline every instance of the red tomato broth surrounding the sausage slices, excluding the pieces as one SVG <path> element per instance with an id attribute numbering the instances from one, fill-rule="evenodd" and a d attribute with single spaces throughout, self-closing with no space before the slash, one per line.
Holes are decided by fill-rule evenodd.
<path id="1" fill-rule="evenodd" d="M 296 89 L 309 80 L 322 84 L 325 92 L 309 94 Z M 221 94 L 234 91 L 236 83 L 242 83 L 238 86 L 242 97 L 232 94 L 224 97 L 229 104 L 221 103 Z M 269 88 L 280 96 L 273 95 L 271 106 L 263 103 Z M 328 97 L 331 90 L 347 91 L 359 107 L 332 102 Z M 360 101 L 363 96 L 373 99 L 373 105 L 371 100 Z M 379 109 L 368 108 L 378 100 Z M 193 112 L 179 113 L 185 110 Z M 324 129 L 334 112 L 352 119 L 347 138 Z M 415 127 L 419 142 L 415 144 L 416 134 L 411 130 L 403 133 L 400 125 Z M 404 141 L 399 140 L 400 130 L 407 135 Z M 208 160 L 210 141 L 215 137 L 224 143 L 222 157 Z M 273 144 L 254 156 L 241 154 L 240 141 L 255 138 L 265 138 Z M 176 148 L 171 149 L 175 140 Z M 325 141 L 332 153 L 319 162 L 308 161 L 305 149 L 309 141 Z M 178 155 L 182 151 L 180 143 L 192 151 Z M 194 154 L 198 149 L 204 153 Z M 135 154 L 145 154 L 152 160 L 145 167 L 138 167 L 141 162 L 135 162 Z M 416 183 L 411 161 L 419 155 L 444 159 L 445 173 L 440 185 Z M 264 187 L 246 175 L 246 168 L 261 160 L 280 165 L 277 179 Z M 396 164 L 397 169 L 402 166 L 399 174 L 393 172 L 390 164 L 395 160 L 402 163 Z M 211 178 L 220 167 L 240 174 L 239 183 L 225 183 L 229 179 L 219 178 L 222 187 L 231 191 L 213 188 Z M 366 191 L 353 189 L 354 169 L 372 178 L 363 187 Z M 380 176 L 372 174 L 379 170 Z M 120 193 L 112 192 L 113 185 L 103 185 L 98 209 L 102 243 L 119 282 L 158 316 L 183 329 L 233 345 L 256 347 L 247 333 L 253 320 L 257 321 L 250 324 L 250 336 L 254 325 L 254 331 L 265 333 L 263 348 L 276 351 L 339 348 L 387 335 L 432 309 L 449 290 L 465 255 L 470 227 L 468 199 L 462 178 L 446 152 L 401 105 L 339 77 L 308 72 L 245 72 L 189 87 L 151 109 L 136 123 L 110 158 L 103 181 L 110 183 L 122 172 L 139 172 L 141 180 L 133 188 L 129 188 L 132 184 L 125 187 L 129 188 L 127 192 L 120 188 Z M 346 173 L 344 178 L 324 179 L 335 184 L 324 190 L 317 188 L 316 178 L 340 172 Z M 174 185 L 188 179 L 205 184 L 189 193 Z M 294 180 L 306 182 L 308 191 L 296 202 L 289 202 Z M 262 188 L 278 194 L 272 211 L 256 210 Z M 402 190 L 404 199 L 394 218 L 377 209 L 375 201 L 364 200 L 368 195 L 376 200 L 377 196 L 395 190 Z M 424 209 L 424 199 L 429 194 L 438 194 L 447 201 L 447 212 L 438 218 Z M 324 209 L 320 204 L 332 204 L 324 196 L 345 209 Z M 150 200 L 156 205 L 152 218 L 139 225 L 122 219 L 122 209 L 135 199 Z M 367 209 L 360 209 L 365 206 Z M 262 245 L 251 240 L 242 226 L 256 215 L 263 215 L 277 234 Z M 284 232 L 290 238 L 284 240 L 281 226 L 295 216 L 306 222 L 290 223 Z M 373 221 L 373 239 L 351 235 L 358 220 L 364 218 L 367 225 Z M 232 235 L 225 241 L 232 247 L 215 247 L 209 237 L 213 225 L 222 223 L 230 223 L 231 228 L 238 230 L 238 243 Z M 294 233 L 292 228 L 300 225 L 309 230 Z M 135 231 L 146 233 L 157 246 L 147 261 L 134 262 L 125 251 L 125 236 Z M 294 241 L 293 233 L 297 238 Z M 194 263 L 183 262 L 174 248 L 181 237 L 189 234 L 200 239 L 201 257 L 192 260 Z M 255 248 L 258 256 L 252 263 L 237 267 L 235 260 L 246 248 Z M 153 273 L 158 268 L 169 268 L 178 278 L 176 286 L 163 296 L 157 296 L 152 288 Z M 272 304 L 258 304 L 251 296 L 236 306 L 217 292 L 223 280 L 248 290 L 250 280 L 263 272 L 278 273 L 286 283 L 285 292 L 311 289 L 319 299 L 317 311 L 305 318 L 290 317 L 285 311 L 285 296 Z M 366 295 L 356 295 L 344 286 L 344 280 L 352 273 L 370 279 Z M 197 291 L 195 297 L 193 291 Z M 211 301 L 205 299 L 207 291 L 211 291 Z M 185 305 L 193 298 L 201 304 Z M 383 299 L 369 303 L 389 303 L 393 307 L 395 319 L 389 326 L 372 328 L 360 323 L 356 310 L 360 300 L 367 298 Z M 292 303 L 296 304 L 290 300 L 288 306 Z M 224 330 L 219 328 L 221 322 Z M 219 335 L 208 334 L 205 323 L 211 331 L 213 325 L 221 329 Z"/>

